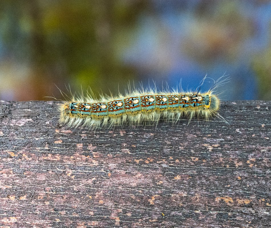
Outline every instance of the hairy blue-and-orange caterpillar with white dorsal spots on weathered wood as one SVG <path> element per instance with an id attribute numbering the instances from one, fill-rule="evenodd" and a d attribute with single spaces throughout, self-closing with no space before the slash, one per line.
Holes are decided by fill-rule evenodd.
<path id="1" fill-rule="evenodd" d="M 119 97 L 103 96 L 100 100 L 91 95 L 64 102 L 60 106 L 60 124 L 67 127 L 87 127 L 98 129 L 115 125 L 156 124 L 163 118 L 176 123 L 183 116 L 189 121 L 195 115 L 206 120 L 209 117 L 225 119 L 218 113 L 220 100 L 214 91 L 227 83 L 229 78 L 222 76 L 206 93 L 200 93 L 200 86 L 193 92 L 173 91 L 157 92 L 153 89 L 127 93 Z M 203 84 L 205 78 L 202 80 Z M 223 79 L 223 80 L 222 80 Z M 225 121 L 226 122 L 226 121 Z"/>

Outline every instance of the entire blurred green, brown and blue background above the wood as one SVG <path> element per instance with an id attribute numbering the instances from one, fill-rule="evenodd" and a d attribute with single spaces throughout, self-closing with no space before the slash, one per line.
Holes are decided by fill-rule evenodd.
<path id="1" fill-rule="evenodd" d="M 1 100 L 195 89 L 206 74 L 230 76 L 223 100 L 271 99 L 270 1 L 1 0 Z"/>

